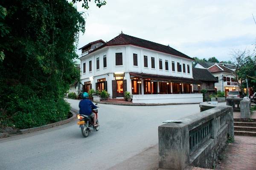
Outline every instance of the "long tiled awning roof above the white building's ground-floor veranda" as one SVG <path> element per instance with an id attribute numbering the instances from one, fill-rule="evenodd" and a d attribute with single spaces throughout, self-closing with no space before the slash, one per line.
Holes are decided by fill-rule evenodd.
<path id="1" fill-rule="evenodd" d="M 168 82 L 181 82 L 181 83 L 201 83 L 201 81 L 195 79 L 189 79 L 184 77 L 173 77 L 173 76 L 163 76 L 157 74 L 146 74 L 146 73 L 129 73 L 131 78 L 142 78 L 142 79 L 152 79 L 154 81 L 168 81 Z"/>

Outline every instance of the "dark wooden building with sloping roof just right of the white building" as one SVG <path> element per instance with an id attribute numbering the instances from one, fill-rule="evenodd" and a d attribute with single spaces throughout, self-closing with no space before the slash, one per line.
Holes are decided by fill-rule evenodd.
<path id="1" fill-rule="evenodd" d="M 194 79 L 201 81 L 200 85 L 193 85 L 194 93 L 200 93 L 202 89 L 206 89 L 208 96 L 215 94 L 215 83 L 218 79 L 205 68 L 192 68 L 192 71 Z"/>

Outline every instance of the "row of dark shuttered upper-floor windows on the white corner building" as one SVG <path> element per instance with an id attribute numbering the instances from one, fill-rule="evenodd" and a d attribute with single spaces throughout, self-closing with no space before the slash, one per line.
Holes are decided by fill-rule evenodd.
<path id="1" fill-rule="evenodd" d="M 99 69 L 99 57 L 96 58 L 96 70 Z M 116 53 L 116 65 L 123 65 L 122 63 L 122 53 Z M 133 54 L 133 65 L 138 66 L 138 55 Z M 107 67 L 107 56 L 103 56 L 103 68 Z M 144 67 L 148 68 L 148 56 L 144 56 Z M 151 68 L 155 68 L 155 57 L 151 57 Z M 183 63 L 183 73 L 188 73 L 190 74 L 190 65 Z M 180 62 L 177 62 L 177 72 L 182 71 L 181 64 Z M 187 68 L 187 69 L 186 69 Z M 163 60 L 159 59 L 159 69 L 163 70 Z M 169 61 L 165 60 L 165 70 L 169 71 Z M 92 71 L 92 61 L 89 61 L 89 72 Z M 175 71 L 175 61 L 172 61 L 172 71 Z M 83 73 L 86 72 L 86 63 L 83 63 Z"/>

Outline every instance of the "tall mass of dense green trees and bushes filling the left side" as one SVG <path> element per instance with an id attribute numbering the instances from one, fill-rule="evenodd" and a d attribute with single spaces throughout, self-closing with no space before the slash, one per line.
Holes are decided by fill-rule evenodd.
<path id="1" fill-rule="evenodd" d="M 35 127 L 66 119 L 82 14 L 66 0 L 0 3 L 0 126 Z"/>

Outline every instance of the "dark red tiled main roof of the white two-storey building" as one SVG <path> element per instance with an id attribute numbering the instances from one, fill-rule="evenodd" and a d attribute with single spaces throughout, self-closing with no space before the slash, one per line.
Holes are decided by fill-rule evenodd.
<path id="1" fill-rule="evenodd" d="M 143 48 L 148 48 L 154 51 L 160 51 L 167 54 L 172 54 L 175 56 L 183 57 L 186 59 L 192 59 L 191 57 L 187 56 L 186 54 L 181 53 L 180 51 L 175 50 L 174 48 L 168 46 L 168 45 L 162 45 L 156 42 L 151 42 L 148 40 L 143 40 L 137 37 L 133 37 L 127 34 L 119 34 L 117 37 L 113 38 L 112 40 L 106 42 L 99 48 L 96 48 L 93 51 L 97 51 L 100 48 L 103 48 L 105 46 L 113 46 L 113 45 L 136 45 Z M 90 51 L 92 53 L 93 51 Z M 194 60 L 194 59 L 192 59 Z"/>

